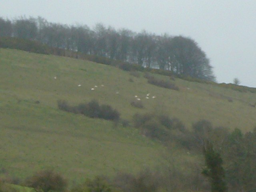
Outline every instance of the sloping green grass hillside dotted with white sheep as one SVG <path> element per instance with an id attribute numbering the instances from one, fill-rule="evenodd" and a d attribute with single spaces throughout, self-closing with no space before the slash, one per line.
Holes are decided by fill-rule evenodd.
<path id="1" fill-rule="evenodd" d="M 72 180 L 114 176 L 166 161 L 160 142 L 132 127 L 61 111 L 60 99 L 70 104 L 97 99 L 129 121 L 136 112 L 156 111 L 180 118 L 187 127 L 201 119 L 244 131 L 256 126 L 256 108 L 249 106 L 256 102 L 256 94 L 180 79 L 174 81 L 180 90 L 169 90 L 148 84 L 142 73 L 136 78 L 84 60 L 0 49 L 0 77 L 0 166 L 22 178 L 49 167 Z M 143 109 L 130 105 L 135 95 Z M 177 148 L 171 154 L 177 166 L 198 160 Z"/>

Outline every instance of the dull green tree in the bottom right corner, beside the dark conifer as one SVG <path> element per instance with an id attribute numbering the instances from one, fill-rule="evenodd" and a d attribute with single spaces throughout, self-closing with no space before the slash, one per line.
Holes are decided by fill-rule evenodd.
<path id="1" fill-rule="evenodd" d="M 235 129 L 225 145 L 227 179 L 233 191 L 256 189 L 256 130 L 243 134 Z M 230 188 L 231 188 L 230 187 Z"/>

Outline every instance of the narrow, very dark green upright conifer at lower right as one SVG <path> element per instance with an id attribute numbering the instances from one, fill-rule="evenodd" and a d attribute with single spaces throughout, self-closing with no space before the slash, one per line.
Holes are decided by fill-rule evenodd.
<path id="1" fill-rule="evenodd" d="M 225 171 L 222 167 L 223 161 L 217 152 L 214 151 L 212 143 L 206 141 L 204 149 L 204 159 L 206 168 L 202 174 L 210 179 L 212 192 L 226 192 L 228 190 L 225 178 Z"/>

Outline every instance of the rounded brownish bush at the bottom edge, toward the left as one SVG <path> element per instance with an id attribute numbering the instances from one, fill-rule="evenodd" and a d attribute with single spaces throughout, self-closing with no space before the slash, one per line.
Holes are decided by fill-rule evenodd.
<path id="1" fill-rule="evenodd" d="M 53 170 L 44 170 L 36 173 L 34 176 L 26 180 L 29 187 L 41 190 L 43 192 L 49 191 L 64 191 L 67 186 L 67 181 Z"/>

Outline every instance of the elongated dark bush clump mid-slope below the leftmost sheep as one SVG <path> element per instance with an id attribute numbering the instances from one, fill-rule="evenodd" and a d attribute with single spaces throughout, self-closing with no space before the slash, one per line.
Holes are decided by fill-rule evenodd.
<path id="1" fill-rule="evenodd" d="M 102 118 L 106 120 L 119 120 L 120 113 L 110 105 L 100 105 L 98 101 L 92 100 L 88 103 L 80 103 L 78 106 L 70 106 L 64 100 L 58 100 L 58 108 L 75 114 L 83 114 L 90 118 Z"/>

